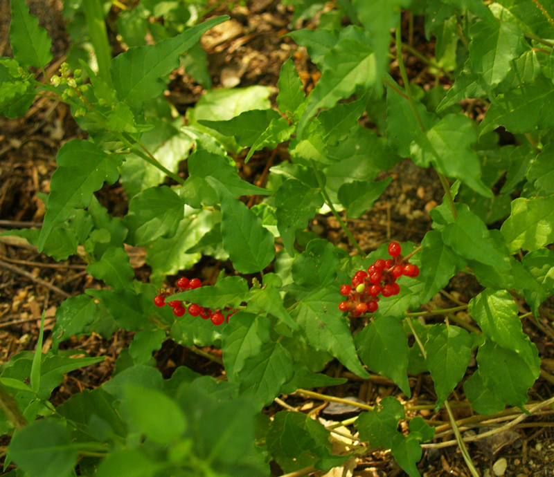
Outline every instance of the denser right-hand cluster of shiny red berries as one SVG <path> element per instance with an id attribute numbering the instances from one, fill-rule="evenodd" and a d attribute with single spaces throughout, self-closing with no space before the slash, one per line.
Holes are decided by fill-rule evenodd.
<path id="1" fill-rule="evenodd" d="M 359 317 L 365 312 L 375 312 L 379 305 L 379 294 L 383 297 L 392 297 L 400 293 L 400 286 L 396 279 L 417 277 L 420 274 L 418 265 L 407 263 L 400 254 L 402 247 L 396 242 L 388 244 L 388 254 L 392 259 L 377 259 L 368 271 L 359 270 L 352 277 L 352 286 L 341 286 L 341 294 L 348 297 L 347 301 L 339 303 L 339 310 L 350 311 L 353 317 Z M 404 263 L 406 262 L 406 263 Z"/>

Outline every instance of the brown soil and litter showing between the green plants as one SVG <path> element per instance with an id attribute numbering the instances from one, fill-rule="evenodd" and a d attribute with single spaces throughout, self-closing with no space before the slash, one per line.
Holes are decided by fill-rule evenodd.
<path id="1" fill-rule="evenodd" d="M 31 10 L 39 16 L 41 24 L 55 39 L 53 63 L 59 65 L 69 45 L 60 13 L 61 3 L 56 0 L 49 2 L 37 0 L 31 1 L 30 6 Z M 296 48 L 291 38 L 280 37 L 288 31 L 292 10 L 279 5 L 277 1 L 254 0 L 249 2 L 248 6 L 236 7 L 231 12 L 219 8 L 213 13 L 228 13 L 232 19 L 230 26 L 226 24 L 208 32 L 203 39 L 202 44 L 208 53 L 214 87 L 220 84 L 276 86 L 280 66 Z M 0 55 L 10 54 L 8 21 L 9 1 L 0 0 Z M 305 21 L 303 27 L 314 26 L 314 21 Z M 295 25 L 295 28 L 298 26 Z M 416 19 L 416 38 L 420 31 L 418 28 L 420 26 Z M 423 42 L 422 53 L 429 53 L 426 48 L 430 46 Z M 305 82 L 306 90 L 310 91 L 319 78 L 318 71 L 307 58 L 303 48 L 296 50 L 294 60 Z M 417 75 L 422 87 L 434 84 L 434 76 L 425 73 L 425 65 L 417 58 L 406 57 L 406 62 L 411 68 L 409 74 L 411 77 Z M 181 113 L 184 113 L 189 106 L 195 104 L 202 91 L 202 87 L 192 78 L 177 71 L 170 85 L 169 100 Z M 479 104 L 471 106 L 474 107 L 476 115 L 481 113 Z M 373 125 L 369 124 L 369 126 Z M 49 180 L 55 170 L 57 150 L 67 140 L 80 137 L 85 135 L 76 126 L 68 108 L 63 104 L 52 104 L 46 99 L 37 100 L 24 118 L 7 120 L 0 117 L 1 229 L 40 226 L 44 207 L 39 200 L 39 194 L 48 193 Z M 238 157 L 244 178 L 254 183 L 260 180 L 270 154 L 270 151 L 259 151 L 248 165 L 244 165 L 241 160 L 244 153 Z M 274 163 L 281 160 L 287 160 L 286 149 L 278 149 L 274 156 Z M 393 182 L 382 198 L 375 203 L 375 207 L 361 218 L 349 221 L 352 233 L 366 252 L 374 250 L 391 239 L 420 243 L 425 232 L 430 229 L 429 210 L 442 201 L 443 191 L 434 172 L 419 169 L 411 161 L 405 160 L 397 165 L 391 174 Z M 125 194 L 118 183 L 105 187 L 98 192 L 97 196 L 109 207 L 111 214 L 125 213 Z M 332 216 L 316 216 L 310 223 L 310 230 L 328 238 L 335 245 L 353 250 Z M 100 287 L 101 284 L 85 272 L 86 264 L 77 257 L 55 263 L 48 256 L 37 253 L 35 248 L 28 245 L 26 241 L 15 237 L 0 240 L 0 360 L 6 362 L 15 353 L 35 350 L 39 318 L 43 310 L 46 310 L 46 340 L 43 346 L 43 351 L 46 352 L 51 344 L 49 332 L 53 328 L 55 310 L 60 303 L 68 296 L 83 292 L 85 288 Z M 132 263 L 136 265 L 137 277 L 144 281 L 148 280 L 149 269 L 141 261 L 143 250 L 129 250 L 129 252 L 132 252 Z M 225 266 L 211 259 L 205 259 L 196 265 L 195 273 L 207 279 L 215 276 L 218 268 Z M 172 279 L 173 277 L 169 277 L 168 282 L 172 283 Z M 452 280 L 445 294 L 436 297 L 434 304 L 447 308 L 456 306 L 459 301 L 467 303 L 480 290 L 479 283 L 476 283 L 472 277 L 459 274 Z M 539 347 L 543 362 L 546 365 L 554 363 L 551 352 L 554 333 L 551 324 L 546 319 L 537 324 L 533 319 L 526 318 L 524 330 Z M 108 380 L 120 350 L 128 346 L 131 339 L 132 333 L 119 331 L 109 341 L 98 335 L 92 335 L 65 342 L 65 347 L 86 350 L 91 356 L 103 355 L 106 359 L 97 366 L 68 373 L 64 383 L 53 394 L 53 403 L 60 404 L 73 393 L 82 389 L 93 389 Z M 219 350 L 205 348 L 204 351 L 220 355 Z M 211 375 L 220 375 L 222 371 L 220 366 L 209 359 L 172 342 L 166 342 L 155 357 L 159 368 L 166 376 L 180 365 Z M 548 374 L 551 371 L 548 367 L 544 368 L 544 375 L 530 390 L 530 400 L 539 402 L 553 395 L 551 386 L 553 386 L 554 377 Z M 342 366 L 337 362 L 330 364 L 326 372 L 335 376 L 345 375 Z M 351 378 L 347 384 L 325 389 L 323 392 L 339 397 L 354 396 L 370 404 L 375 404 L 379 398 L 386 395 L 406 398 L 393 383 L 386 379 L 375 377 L 374 380 L 361 382 L 348 373 L 346 375 Z M 436 396 L 428 375 L 411 377 L 411 384 L 414 393 L 409 401 L 410 405 L 434 404 Z M 288 404 L 301 407 L 304 411 L 321 404 L 319 401 L 299 395 L 290 395 L 284 399 Z M 463 389 L 458 386 L 454 391 L 453 400 L 463 399 Z M 274 404 L 267 409 L 267 413 L 271 415 L 280 409 L 282 408 L 278 404 Z M 519 426 L 496 440 L 481 440 L 478 441 L 479 445 L 469 445 L 470 454 L 481 474 L 490 472 L 494 475 L 492 474 L 493 463 L 499 458 L 506 458 L 508 477 L 553 475 L 553 431 L 549 422 L 551 419 L 548 409 L 545 411 L 524 420 Z M 454 409 L 454 413 L 456 418 L 468 415 L 464 408 Z M 439 413 L 420 411 L 419 414 L 427 419 L 448 420 L 444 410 Z M 341 413 L 338 414 L 339 417 L 332 413 L 321 415 L 327 416 L 326 419 L 344 418 Z M 476 429 L 476 431 L 479 430 Z M 452 436 L 446 436 L 445 439 L 452 439 Z M 8 440 L 3 438 L 0 445 L 5 446 L 7 442 Z M 0 447 L 1 450 L 5 450 L 5 447 Z M 456 446 L 445 449 L 425 449 L 418 467 L 422 474 L 425 473 L 428 477 L 470 475 Z M 388 453 L 374 453 L 360 460 L 353 471 L 355 476 L 406 475 L 397 467 Z"/>

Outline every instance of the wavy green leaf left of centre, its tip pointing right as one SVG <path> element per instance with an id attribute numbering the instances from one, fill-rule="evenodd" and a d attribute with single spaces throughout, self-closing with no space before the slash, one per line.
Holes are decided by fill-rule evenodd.
<path id="1" fill-rule="evenodd" d="M 187 162 L 190 177 L 202 179 L 208 176 L 213 177 L 220 181 L 234 197 L 247 196 L 250 194 L 262 196 L 271 194 L 271 191 L 267 189 L 256 187 L 255 185 L 247 183 L 246 180 L 242 180 L 238 175 L 237 168 L 231 166 L 220 154 L 198 148 L 190 155 Z M 212 189 L 211 185 L 209 185 L 206 180 L 202 181 L 202 187 Z"/>

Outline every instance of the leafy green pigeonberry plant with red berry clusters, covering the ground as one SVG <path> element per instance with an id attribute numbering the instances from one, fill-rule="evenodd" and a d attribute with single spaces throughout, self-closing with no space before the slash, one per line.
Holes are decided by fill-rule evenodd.
<path id="1" fill-rule="evenodd" d="M 409 376 L 420 373 L 430 374 L 431 408 L 445 411 L 477 475 L 454 407 L 494 415 L 550 403 L 527 404 L 541 359 L 521 319 L 553 319 L 543 303 L 554 294 L 554 4 L 339 0 L 319 28 L 289 32 L 321 72 L 309 95 L 291 58 L 275 106 L 265 86 L 211 90 L 205 81 L 183 120 L 163 99 L 168 75 L 184 53 L 202 63 L 199 38 L 228 17 L 195 24 L 167 3 L 127 2 L 116 27 L 129 48 L 113 58 L 102 2 L 82 1 L 80 14 L 68 8 L 84 15 L 96 62 L 71 55 L 48 77 L 51 40 L 26 1 L 11 0 L 0 114 L 18 118 L 35 97 L 51 98 L 71 107 L 87 139 L 60 147 L 42 229 L 8 234 L 57 260 L 79 254 L 105 287 L 57 308 L 48 353 L 41 328 L 36 353 L 1 366 L 5 467 L 17 466 L 6 475 L 256 477 L 269 476 L 273 461 L 301 476 L 391 449 L 415 477 L 420 443 L 436 425 L 406 416 Z M 298 19 L 319 5 L 287 4 Z M 403 35 L 414 17 L 425 24 L 424 53 Z M 435 86 L 415 84 L 405 52 Z M 481 117 L 468 108 L 476 103 Z M 290 160 L 268 164 L 266 187 L 240 176 L 237 160 L 256 153 L 269 161 L 277 148 Z M 420 244 L 364 250 L 346 217 L 370 213 L 404 158 L 431 167 L 443 202 Z M 123 218 L 95 196 L 117 180 L 129 201 Z M 318 212 L 336 218 L 352 254 L 304 232 Z M 149 283 L 135 279 L 124 245 L 148 251 Z M 202 256 L 226 263 L 215 283 L 189 272 Z M 481 292 L 436 308 L 436 294 L 462 275 Z M 64 373 L 104 359 L 71 357 L 60 344 L 120 329 L 134 337 L 111 379 L 54 406 Z M 168 339 L 220 363 L 223 379 L 186 366 L 164 378 L 152 354 Z M 310 389 L 348 381 L 325 374 L 334 359 L 350 377 L 378 374 L 399 389 L 343 422 L 358 434 L 341 452 L 333 426 L 288 407 L 271 419 L 261 412 L 295 392 L 332 400 Z M 467 402 L 456 402 L 461 393 Z"/>

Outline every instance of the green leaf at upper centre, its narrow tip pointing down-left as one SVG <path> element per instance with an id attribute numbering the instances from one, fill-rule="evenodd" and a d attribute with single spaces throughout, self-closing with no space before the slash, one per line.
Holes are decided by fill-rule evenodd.
<path id="1" fill-rule="evenodd" d="M 368 89 L 377 80 L 375 53 L 357 39 L 341 39 L 325 54 L 325 68 L 310 93 L 296 135 L 302 138 L 307 121 L 321 108 L 350 97 L 359 86 Z"/>

